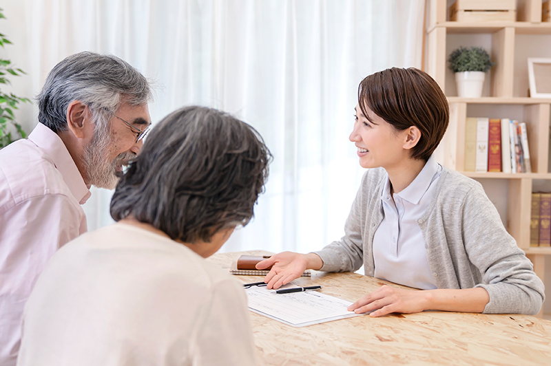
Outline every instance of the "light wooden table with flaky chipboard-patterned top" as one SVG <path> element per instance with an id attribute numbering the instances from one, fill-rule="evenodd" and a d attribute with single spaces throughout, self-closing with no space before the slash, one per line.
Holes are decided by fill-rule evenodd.
<path id="1" fill-rule="evenodd" d="M 229 269 L 242 254 L 270 253 L 219 253 L 209 261 Z M 383 284 L 403 287 L 353 272 L 313 271 L 294 282 L 348 301 Z M 551 365 L 551 321 L 534 316 L 428 311 L 291 327 L 251 312 L 251 321 L 259 365 Z"/>

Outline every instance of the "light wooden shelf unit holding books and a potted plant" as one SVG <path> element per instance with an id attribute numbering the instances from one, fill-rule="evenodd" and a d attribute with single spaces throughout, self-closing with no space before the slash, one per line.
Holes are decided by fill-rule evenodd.
<path id="1" fill-rule="evenodd" d="M 481 0 L 484 1 L 484 0 Z M 551 0 L 550 0 L 551 1 Z M 450 125 L 442 142 L 444 164 L 476 180 L 501 180 L 508 189 L 506 228 L 534 263 L 534 272 L 545 282 L 545 256 L 551 248 L 530 247 L 530 211 L 534 181 L 551 181 L 549 140 L 551 98 L 528 98 L 514 92 L 514 56 L 516 36 L 551 35 L 551 23 L 541 23 L 542 0 L 519 0 L 517 21 L 466 23 L 449 21 L 450 1 L 428 0 L 425 70 L 435 78 L 442 90 L 450 80 L 447 72 L 446 42 L 450 36 L 482 34 L 491 39 L 490 56 L 495 61 L 490 76 L 490 96 L 459 98 L 448 96 Z M 470 46 L 464 44 L 465 47 Z M 530 57 L 532 55 L 526 55 Z M 532 56 L 535 57 L 535 56 Z M 486 76 L 488 77 L 488 75 Z M 451 87 L 450 87 L 451 88 Z M 517 89 L 519 89 L 517 87 Z M 516 94 L 519 94 L 517 91 Z M 472 109 L 472 111 L 469 111 Z M 533 173 L 475 173 L 464 171 L 465 122 L 467 117 L 514 118 L 514 109 L 528 127 L 528 144 Z M 487 110 L 486 114 L 481 111 Z M 516 118 L 514 118 L 516 119 Z M 551 183 L 551 182 L 550 182 Z M 551 186 L 551 185 L 550 185 Z M 542 312 L 539 316 L 543 316 Z"/>

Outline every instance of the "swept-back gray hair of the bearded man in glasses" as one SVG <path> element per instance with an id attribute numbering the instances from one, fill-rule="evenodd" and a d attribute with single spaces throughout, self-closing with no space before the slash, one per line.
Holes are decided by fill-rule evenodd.
<path id="1" fill-rule="evenodd" d="M 122 103 L 143 105 L 152 98 L 147 79 L 121 58 L 80 52 L 67 56 L 48 74 L 37 96 L 39 122 L 59 132 L 67 129 L 67 106 L 80 100 L 92 111 L 96 127 Z"/>

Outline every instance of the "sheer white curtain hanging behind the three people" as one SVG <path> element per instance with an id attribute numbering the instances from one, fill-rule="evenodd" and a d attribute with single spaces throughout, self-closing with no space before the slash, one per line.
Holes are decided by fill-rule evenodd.
<path id="1" fill-rule="evenodd" d="M 198 104 L 258 129 L 274 156 L 269 182 L 222 250 L 304 252 L 340 238 L 363 173 L 348 139 L 357 85 L 422 63 L 424 0 L 23 3 L 33 94 L 63 57 L 111 53 L 155 81 L 154 121 Z M 112 222 L 112 193 L 92 193 L 89 230 Z"/>

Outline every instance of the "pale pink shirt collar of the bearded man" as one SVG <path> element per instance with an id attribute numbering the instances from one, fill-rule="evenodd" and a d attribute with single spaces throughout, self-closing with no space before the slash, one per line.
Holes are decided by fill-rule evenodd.
<path id="1" fill-rule="evenodd" d="M 80 204 L 85 204 L 92 195 L 90 186 L 85 184 L 79 168 L 76 167 L 71 154 L 57 133 L 39 122 L 30 133 L 29 140 L 52 159 L 72 195 Z"/>

